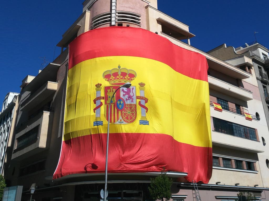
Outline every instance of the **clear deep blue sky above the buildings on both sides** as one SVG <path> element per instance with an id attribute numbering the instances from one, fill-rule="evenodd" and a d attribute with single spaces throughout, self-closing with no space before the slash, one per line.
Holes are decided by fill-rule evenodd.
<path id="1" fill-rule="evenodd" d="M 109 1 L 109 0 L 107 0 Z M 131 1 L 131 0 L 130 0 Z M 55 45 L 82 13 L 78 0 L 14 0 L 0 6 L 0 103 L 20 92 L 27 75 L 36 76 L 43 57 L 52 62 Z M 226 43 L 239 47 L 255 40 L 269 48 L 268 1 L 158 0 L 158 10 L 189 25 L 192 46 L 205 52 Z M 55 53 L 54 53 L 55 52 Z"/>

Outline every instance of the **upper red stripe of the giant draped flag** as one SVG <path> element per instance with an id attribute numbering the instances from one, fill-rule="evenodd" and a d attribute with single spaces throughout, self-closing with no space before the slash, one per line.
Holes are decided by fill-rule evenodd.
<path id="1" fill-rule="evenodd" d="M 69 69 L 92 58 L 132 56 L 160 61 L 183 75 L 207 81 L 207 74 L 204 73 L 208 69 L 206 57 L 181 48 L 146 29 L 134 27 L 93 29 L 74 39 L 69 44 L 69 49 L 72 49 L 69 53 Z"/>

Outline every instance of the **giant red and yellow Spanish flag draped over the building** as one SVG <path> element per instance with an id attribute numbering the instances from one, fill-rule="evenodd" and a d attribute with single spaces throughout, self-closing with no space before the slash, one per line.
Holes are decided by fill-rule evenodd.
<path id="1" fill-rule="evenodd" d="M 212 172 L 207 61 L 141 28 L 98 28 L 69 45 L 64 133 L 54 179 L 104 173 Z"/>

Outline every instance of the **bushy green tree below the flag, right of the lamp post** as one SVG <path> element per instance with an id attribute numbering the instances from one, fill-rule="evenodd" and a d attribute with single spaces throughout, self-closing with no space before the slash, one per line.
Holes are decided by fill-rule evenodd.
<path id="1" fill-rule="evenodd" d="M 168 178 L 165 168 L 162 173 L 150 179 L 148 190 L 154 200 L 168 201 L 171 198 L 172 179 Z"/>

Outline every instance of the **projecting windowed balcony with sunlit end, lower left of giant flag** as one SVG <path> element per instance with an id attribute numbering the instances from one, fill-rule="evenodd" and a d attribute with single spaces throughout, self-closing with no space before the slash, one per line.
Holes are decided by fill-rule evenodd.
<path id="1" fill-rule="evenodd" d="M 12 159 L 22 160 L 49 147 L 53 110 L 45 110 L 43 109 L 17 127 Z"/>

